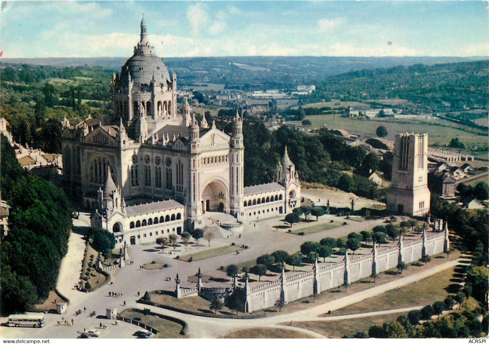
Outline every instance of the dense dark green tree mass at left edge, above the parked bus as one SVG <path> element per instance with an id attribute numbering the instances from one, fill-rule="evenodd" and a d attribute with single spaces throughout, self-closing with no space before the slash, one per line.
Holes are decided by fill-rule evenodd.
<path id="1" fill-rule="evenodd" d="M 1 312 L 8 314 L 32 309 L 54 288 L 67 253 L 71 209 L 63 191 L 22 169 L 3 135 L 0 168 L 2 199 L 11 207 L 0 244 Z"/>

